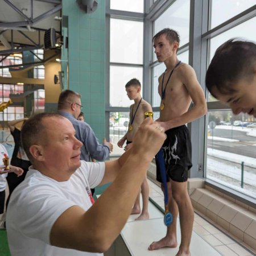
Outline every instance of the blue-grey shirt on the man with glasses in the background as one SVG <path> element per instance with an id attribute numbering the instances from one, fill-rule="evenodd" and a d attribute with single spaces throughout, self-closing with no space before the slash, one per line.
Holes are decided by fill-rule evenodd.
<path id="1" fill-rule="evenodd" d="M 76 130 L 76 138 L 83 144 L 81 147 L 81 160 L 89 162 L 91 156 L 93 159 L 98 161 L 104 161 L 109 157 L 109 147 L 98 142 L 94 131 L 88 123 L 77 120 L 68 112 L 59 111 L 59 113 L 64 115 L 64 117 L 67 117 L 69 121 L 72 122 Z"/>

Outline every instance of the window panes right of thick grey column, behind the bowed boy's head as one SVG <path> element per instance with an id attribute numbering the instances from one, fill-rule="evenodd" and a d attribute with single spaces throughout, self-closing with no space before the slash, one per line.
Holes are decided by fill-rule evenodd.
<path id="1" fill-rule="evenodd" d="M 219 33 L 208 39 L 208 64 L 216 49 L 232 38 L 256 42 L 256 17 L 243 22 L 233 20 L 229 30 L 222 29 L 223 22 L 249 9 L 256 1 L 212 0 L 210 28 L 220 25 Z M 222 105 L 210 93 L 207 95 L 207 168 L 205 177 L 241 193 L 256 197 L 256 122 L 244 113 L 233 115 L 228 106 Z M 222 106 L 221 106 L 222 105 Z M 222 110 L 218 110 L 222 109 Z"/>

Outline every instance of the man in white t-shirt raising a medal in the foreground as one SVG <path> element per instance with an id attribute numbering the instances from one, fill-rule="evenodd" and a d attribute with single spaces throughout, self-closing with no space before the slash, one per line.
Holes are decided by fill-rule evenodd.
<path id="1" fill-rule="evenodd" d="M 133 148 L 118 160 L 89 163 L 80 161 L 82 143 L 67 118 L 42 113 L 28 119 L 22 144 L 32 166 L 7 209 L 11 255 L 89 256 L 108 250 L 166 139 L 152 118 L 135 137 Z M 90 188 L 110 181 L 93 204 Z"/>

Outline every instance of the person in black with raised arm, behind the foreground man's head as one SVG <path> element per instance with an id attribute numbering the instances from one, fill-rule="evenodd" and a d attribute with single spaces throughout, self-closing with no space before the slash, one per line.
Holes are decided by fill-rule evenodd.
<path id="1" fill-rule="evenodd" d="M 15 173 L 11 172 L 6 177 L 9 187 L 9 196 L 7 197 L 6 207 L 8 207 L 11 194 L 13 193 L 14 189 L 25 179 L 28 167 L 31 165 L 30 160 L 28 160 L 27 155 L 23 150 L 20 140 L 20 130 L 27 119 L 28 118 L 21 118 L 8 122 L 11 135 L 13 135 L 14 138 L 14 150 L 13 156 L 11 157 L 11 164 L 13 166 L 22 168 L 24 172 L 20 176 L 17 176 Z"/>

